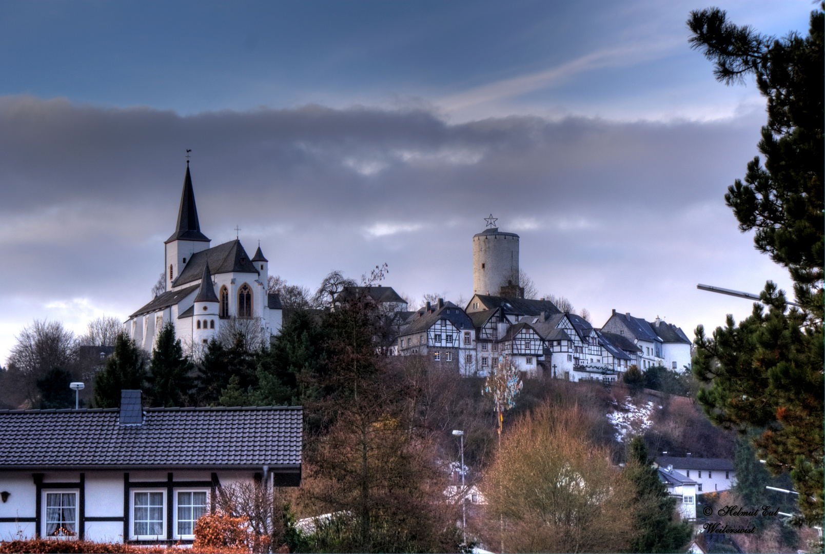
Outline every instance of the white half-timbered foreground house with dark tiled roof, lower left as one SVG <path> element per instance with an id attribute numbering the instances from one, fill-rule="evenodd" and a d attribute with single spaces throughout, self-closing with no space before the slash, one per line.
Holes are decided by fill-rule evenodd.
<path id="1" fill-rule="evenodd" d="M 0 411 L 0 537 L 187 542 L 221 486 L 298 486 L 295 407 Z"/>

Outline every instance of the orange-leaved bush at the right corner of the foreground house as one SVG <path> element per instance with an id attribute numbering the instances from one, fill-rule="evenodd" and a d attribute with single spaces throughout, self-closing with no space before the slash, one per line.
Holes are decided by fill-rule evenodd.
<path id="1" fill-rule="evenodd" d="M 245 516 L 217 510 L 200 516 L 195 524 L 192 552 L 269 552 L 270 538 L 252 530 Z"/>

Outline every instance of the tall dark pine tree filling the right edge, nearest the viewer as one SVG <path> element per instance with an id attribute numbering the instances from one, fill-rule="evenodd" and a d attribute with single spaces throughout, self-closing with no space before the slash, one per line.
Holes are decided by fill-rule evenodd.
<path id="1" fill-rule="evenodd" d="M 726 21 L 718 8 L 692 12 L 691 45 L 715 63 L 728 84 L 752 73 L 767 100 L 759 150 L 725 201 L 742 232 L 755 230 L 757 250 L 784 265 L 801 305 L 768 282 L 752 315 L 728 316 L 712 338 L 696 329 L 696 378 L 711 383 L 698 399 L 716 425 L 753 440 L 775 475 L 790 472 L 808 523 L 821 522 L 825 502 L 823 401 L 823 12 L 812 12 L 808 36 L 775 40 Z"/>

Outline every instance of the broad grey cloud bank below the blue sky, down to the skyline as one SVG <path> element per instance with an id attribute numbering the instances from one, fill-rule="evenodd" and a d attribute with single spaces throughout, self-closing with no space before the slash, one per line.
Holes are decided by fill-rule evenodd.
<path id="1" fill-rule="evenodd" d="M 5 97 L 0 260 L 46 275 L 21 292 L 3 271 L 0 285 L 23 307 L 15 321 L 72 298 L 121 316 L 139 307 L 161 270 L 191 148 L 204 232 L 216 244 L 240 225 L 247 246 L 261 239 L 290 280 L 314 285 L 333 268 L 357 275 L 388 261 L 398 289 L 466 297 L 469 237 L 493 212 L 520 232 L 522 266 L 544 292 L 575 296 L 596 318 L 614 307 L 655 317 L 678 287 L 667 315 L 687 330 L 698 314 L 679 312 L 686 283 L 708 271 L 764 274 L 722 200 L 755 153 L 762 119 L 450 124 L 427 110 L 181 116 Z M 709 251 L 740 267 L 713 269 Z"/>

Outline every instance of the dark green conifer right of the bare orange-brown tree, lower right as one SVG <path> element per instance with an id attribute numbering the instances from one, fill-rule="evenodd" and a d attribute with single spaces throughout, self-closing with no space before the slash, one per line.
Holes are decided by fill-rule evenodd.
<path id="1" fill-rule="evenodd" d="M 629 444 L 628 464 L 631 481 L 636 487 L 634 538 L 628 552 L 680 552 L 691 540 L 691 524 L 674 522 L 676 499 L 667 494 L 658 469 L 648 458 L 648 447 L 641 437 Z"/>

